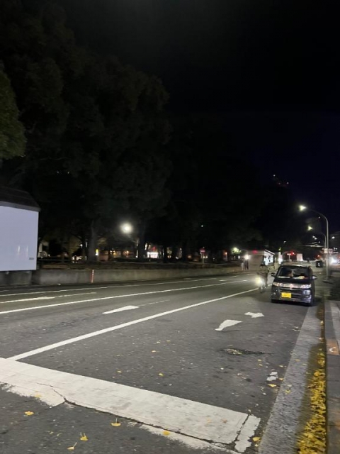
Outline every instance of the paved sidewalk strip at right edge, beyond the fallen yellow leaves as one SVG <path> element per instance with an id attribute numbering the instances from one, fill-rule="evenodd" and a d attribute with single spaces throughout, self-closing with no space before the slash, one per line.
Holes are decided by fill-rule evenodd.
<path id="1" fill-rule="evenodd" d="M 340 447 L 340 301 L 324 304 L 326 341 L 327 454 Z"/>

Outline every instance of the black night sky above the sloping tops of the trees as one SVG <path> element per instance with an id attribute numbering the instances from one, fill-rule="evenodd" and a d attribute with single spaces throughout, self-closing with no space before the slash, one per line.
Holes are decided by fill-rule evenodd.
<path id="1" fill-rule="evenodd" d="M 217 118 L 235 153 L 340 230 L 335 2 L 60 1 L 83 42 L 159 75 L 170 109 Z"/>

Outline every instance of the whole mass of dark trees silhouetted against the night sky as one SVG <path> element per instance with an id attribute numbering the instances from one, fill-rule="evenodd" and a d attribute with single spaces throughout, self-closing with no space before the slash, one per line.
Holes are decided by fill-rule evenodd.
<path id="1" fill-rule="evenodd" d="M 263 184 L 221 131 L 169 113 L 162 81 L 77 44 L 57 1 L 0 4 L 1 184 L 42 209 L 40 238 L 98 238 L 129 219 L 173 250 L 295 238 L 288 190 Z M 70 243 L 70 240 L 69 240 Z"/>

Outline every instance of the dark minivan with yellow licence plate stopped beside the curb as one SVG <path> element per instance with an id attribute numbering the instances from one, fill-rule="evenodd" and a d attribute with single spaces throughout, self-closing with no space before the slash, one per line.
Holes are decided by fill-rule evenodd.
<path id="1" fill-rule="evenodd" d="M 312 268 L 301 265 L 281 265 L 271 286 L 271 302 L 293 301 L 312 306 L 315 298 L 315 279 Z"/>

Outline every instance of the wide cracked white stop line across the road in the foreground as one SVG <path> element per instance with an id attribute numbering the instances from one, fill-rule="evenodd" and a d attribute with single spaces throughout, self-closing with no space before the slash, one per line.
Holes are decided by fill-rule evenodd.
<path id="1" fill-rule="evenodd" d="M 42 402 L 51 402 L 57 395 L 62 402 L 65 399 L 78 406 L 224 445 L 237 441 L 240 434 L 249 439 L 261 421 L 240 411 L 3 358 L 0 383 L 7 385 L 7 391 L 26 397 L 38 393 Z M 241 448 L 239 452 L 246 449 L 244 445 Z"/>

